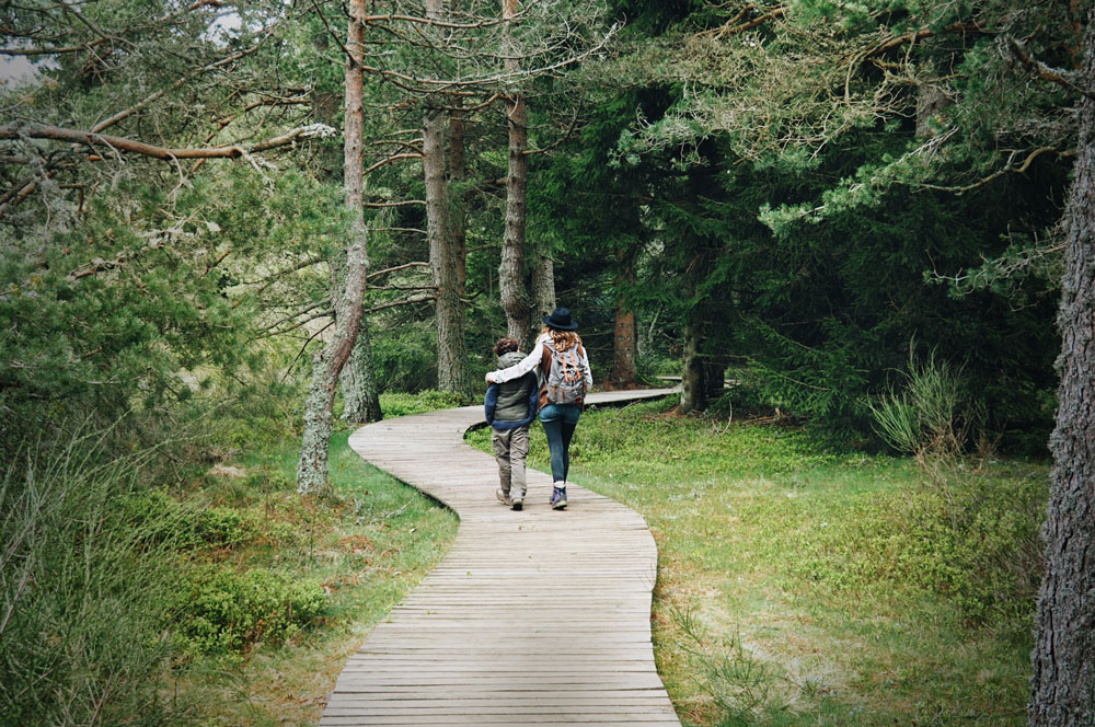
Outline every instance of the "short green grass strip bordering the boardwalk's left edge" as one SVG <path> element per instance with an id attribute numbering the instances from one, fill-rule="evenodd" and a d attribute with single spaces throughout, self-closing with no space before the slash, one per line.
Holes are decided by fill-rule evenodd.
<path id="1" fill-rule="evenodd" d="M 332 437 L 330 496 L 296 494 L 291 445 L 244 455 L 235 466 L 245 476 L 209 477 L 191 493 L 239 512 L 251 533 L 199 551 L 196 564 L 270 568 L 327 593 L 322 616 L 287 642 L 196 654 L 177 670 L 175 689 L 199 705 L 201 724 L 316 724 L 349 655 L 448 551 L 456 516 L 366 464 L 347 439 Z"/>

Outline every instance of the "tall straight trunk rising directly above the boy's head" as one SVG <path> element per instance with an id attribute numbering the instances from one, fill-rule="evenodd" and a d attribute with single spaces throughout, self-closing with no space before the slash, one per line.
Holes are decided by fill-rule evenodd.
<path id="1" fill-rule="evenodd" d="M 511 21 L 517 13 L 517 0 L 503 0 L 502 16 Z M 518 70 L 517 48 L 511 35 L 504 45 L 507 71 Z M 525 99 L 514 88 L 506 97 L 506 128 L 509 130 L 509 173 L 506 176 L 506 232 L 502 242 L 502 264 L 498 267 L 498 290 L 506 312 L 509 336 L 521 350 L 531 343 L 531 307 L 525 288 L 525 226 L 528 218 L 526 198 L 529 184 L 528 126 Z"/>

